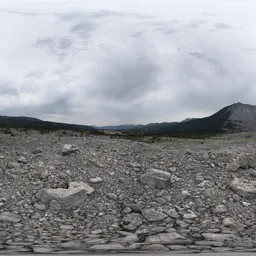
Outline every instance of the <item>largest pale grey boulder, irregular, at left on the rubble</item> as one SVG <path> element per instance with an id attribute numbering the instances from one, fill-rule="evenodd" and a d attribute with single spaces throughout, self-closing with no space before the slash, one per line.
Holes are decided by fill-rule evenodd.
<path id="1" fill-rule="evenodd" d="M 61 205 L 62 209 L 70 209 L 80 205 L 87 195 L 92 194 L 94 188 L 84 182 L 71 182 L 68 189 L 43 189 L 40 193 L 41 202 L 49 204 L 54 201 Z"/>

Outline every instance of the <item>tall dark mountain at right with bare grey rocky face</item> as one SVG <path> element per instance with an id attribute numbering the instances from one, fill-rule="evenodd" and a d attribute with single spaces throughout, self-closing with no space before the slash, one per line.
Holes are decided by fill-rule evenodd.
<path id="1" fill-rule="evenodd" d="M 176 124 L 159 124 L 153 130 L 158 133 L 223 133 L 256 131 L 256 106 L 235 103 L 204 118 L 194 118 Z"/>

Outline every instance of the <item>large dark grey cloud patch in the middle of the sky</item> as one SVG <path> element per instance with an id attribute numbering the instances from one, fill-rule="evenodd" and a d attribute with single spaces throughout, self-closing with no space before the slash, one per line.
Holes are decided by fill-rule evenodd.
<path id="1" fill-rule="evenodd" d="M 158 66 L 152 59 L 135 52 L 131 56 L 116 55 L 101 64 L 91 95 L 118 102 L 133 101 L 156 90 Z"/>

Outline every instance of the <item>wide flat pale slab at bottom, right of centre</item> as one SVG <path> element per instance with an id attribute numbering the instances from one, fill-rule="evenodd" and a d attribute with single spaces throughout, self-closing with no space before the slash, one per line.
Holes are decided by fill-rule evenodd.
<path id="1" fill-rule="evenodd" d="M 190 244 L 191 241 L 181 236 L 177 232 L 173 233 L 161 233 L 153 236 L 148 236 L 146 238 L 146 243 L 151 244 L 163 244 L 163 245 L 186 245 Z"/>

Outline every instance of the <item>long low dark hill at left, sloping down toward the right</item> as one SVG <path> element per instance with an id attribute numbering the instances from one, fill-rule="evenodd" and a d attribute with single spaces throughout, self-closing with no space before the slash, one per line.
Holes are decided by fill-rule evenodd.
<path id="1" fill-rule="evenodd" d="M 65 124 L 50 121 L 43 121 L 37 118 L 19 116 L 0 116 L 0 127 L 2 128 L 26 128 L 36 130 L 73 130 L 73 131 L 91 131 L 97 129 L 88 125 Z"/>

